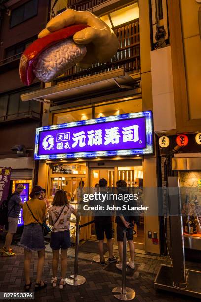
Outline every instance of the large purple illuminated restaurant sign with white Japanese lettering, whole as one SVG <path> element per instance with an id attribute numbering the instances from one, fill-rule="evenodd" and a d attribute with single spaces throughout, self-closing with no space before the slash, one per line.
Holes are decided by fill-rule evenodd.
<path id="1" fill-rule="evenodd" d="M 144 111 L 36 129 L 35 159 L 153 153 L 152 112 Z"/>

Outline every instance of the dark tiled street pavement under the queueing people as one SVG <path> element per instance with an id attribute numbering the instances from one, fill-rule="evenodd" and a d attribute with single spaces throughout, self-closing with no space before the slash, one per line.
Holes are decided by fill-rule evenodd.
<path id="1" fill-rule="evenodd" d="M 2 244 L 0 244 L 2 246 Z M 13 246 L 17 252 L 16 257 L 0 257 L 0 291 L 23 291 L 23 249 Z M 127 286 L 133 288 L 136 297 L 133 301 L 140 302 L 167 302 L 167 301 L 197 301 L 196 299 L 172 294 L 154 289 L 154 279 L 160 264 L 169 264 L 167 257 L 156 257 L 136 253 L 135 263 L 137 269 L 128 272 Z M 117 253 L 117 251 L 115 252 Z M 74 249 L 68 250 L 67 276 L 73 273 Z M 113 302 L 118 301 L 112 294 L 115 286 L 121 286 L 121 273 L 115 268 L 112 272 L 108 265 L 105 269 L 100 264 L 91 261 L 94 253 L 79 253 L 79 274 L 85 276 L 87 282 L 81 286 L 66 285 L 63 290 L 51 287 L 52 253 L 47 247 L 43 279 L 48 282 L 46 289 L 35 293 L 35 302 Z M 37 267 L 37 254 L 33 254 L 31 262 L 32 281 L 35 281 Z M 200 267 L 201 269 L 201 267 Z M 59 271 L 58 271 L 59 275 Z M 33 290 L 33 286 L 32 289 Z M 19 301 L 19 300 L 15 300 Z"/>

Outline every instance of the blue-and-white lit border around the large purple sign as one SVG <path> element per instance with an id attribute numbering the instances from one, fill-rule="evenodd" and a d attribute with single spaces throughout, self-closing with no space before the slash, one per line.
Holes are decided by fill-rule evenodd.
<path id="1" fill-rule="evenodd" d="M 100 124 L 106 122 L 115 122 L 115 121 L 124 121 L 134 118 L 145 118 L 145 127 L 146 127 L 146 148 L 138 149 L 121 149 L 121 150 L 110 150 L 110 151 L 88 151 L 88 152 L 72 152 L 72 153 L 62 153 L 62 154 L 46 154 L 39 155 L 39 143 L 40 143 L 40 134 L 43 131 L 48 130 L 57 130 L 57 129 L 67 129 L 70 127 L 80 127 L 86 125 Z M 47 160 L 47 159 L 67 159 L 67 158 L 94 158 L 94 157 L 108 157 L 108 156 L 131 156 L 131 155 L 144 155 L 144 154 L 153 154 L 153 122 L 152 122 L 152 112 L 144 111 L 138 113 L 127 113 L 121 115 L 114 115 L 108 117 L 100 117 L 95 119 L 88 119 L 83 121 L 64 123 L 59 125 L 45 126 L 36 129 L 35 136 L 35 151 L 34 158 L 35 160 Z"/>

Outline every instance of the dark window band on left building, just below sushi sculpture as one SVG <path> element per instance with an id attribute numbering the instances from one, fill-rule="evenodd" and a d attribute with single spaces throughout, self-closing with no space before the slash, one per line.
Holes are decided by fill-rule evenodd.
<path id="1" fill-rule="evenodd" d="M 40 104 L 37 101 L 22 102 L 22 93 L 32 92 L 40 88 L 40 84 L 26 90 L 0 95 L 0 121 L 24 117 L 34 111 L 34 116 L 40 115 Z"/>

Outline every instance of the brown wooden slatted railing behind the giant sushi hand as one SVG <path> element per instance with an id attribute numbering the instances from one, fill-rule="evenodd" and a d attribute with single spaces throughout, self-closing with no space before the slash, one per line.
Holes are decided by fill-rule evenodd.
<path id="1" fill-rule="evenodd" d="M 110 62 L 105 64 L 93 64 L 91 68 L 82 70 L 73 66 L 65 76 L 57 78 L 55 84 L 79 79 L 85 76 L 97 75 L 99 73 L 124 67 L 127 72 L 140 71 L 140 42 L 139 42 L 139 20 L 135 20 L 129 25 L 115 29 L 115 34 L 119 39 L 119 50 Z"/>

